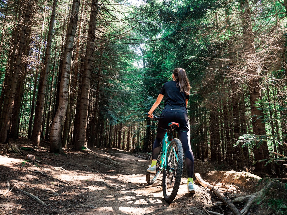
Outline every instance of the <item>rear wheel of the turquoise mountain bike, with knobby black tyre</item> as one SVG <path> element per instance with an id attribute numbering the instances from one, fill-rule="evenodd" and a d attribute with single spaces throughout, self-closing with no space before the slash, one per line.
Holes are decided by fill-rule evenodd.
<path id="1" fill-rule="evenodd" d="M 174 200 L 183 172 L 183 147 L 179 139 L 173 139 L 167 150 L 166 168 L 163 170 L 162 189 L 164 200 Z"/>

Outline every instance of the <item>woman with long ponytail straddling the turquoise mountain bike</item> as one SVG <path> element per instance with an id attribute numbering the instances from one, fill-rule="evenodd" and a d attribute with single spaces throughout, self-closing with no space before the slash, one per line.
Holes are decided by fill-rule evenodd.
<path id="1" fill-rule="evenodd" d="M 164 100 L 164 110 L 160 115 L 158 122 L 158 128 L 156 133 L 156 139 L 154 140 L 154 145 L 152 149 L 152 164 L 147 169 L 150 173 L 156 173 L 156 160 L 158 154 L 160 153 L 160 148 L 162 140 L 168 129 L 168 123 L 177 122 L 180 127 L 177 128 L 179 134 L 179 139 L 183 145 L 183 151 L 185 155 L 185 164 L 187 169 L 187 189 L 190 193 L 195 193 L 195 188 L 193 186 L 193 167 L 194 167 L 194 157 L 193 152 L 190 147 L 189 139 L 189 121 L 187 118 L 187 102 L 189 99 L 189 80 L 182 68 L 175 68 L 172 74 L 173 81 L 168 81 L 164 83 L 158 98 L 152 105 L 150 111 L 148 112 L 149 117 L 153 118 L 153 112 L 156 107 Z"/>

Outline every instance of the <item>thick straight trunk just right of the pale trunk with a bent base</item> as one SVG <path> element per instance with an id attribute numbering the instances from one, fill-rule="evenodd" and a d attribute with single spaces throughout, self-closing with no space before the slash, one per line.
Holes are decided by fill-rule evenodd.
<path id="1" fill-rule="evenodd" d="M 75 150 L 87 148 L 87 122 L 88 122 L 88 107 L 90 98 L 90 83 L 93 66 L 93 53 L 95 48 L 95 33 L 96 21 L 98 15 L 98 0 L 92 0 L 91 15 L 89 21 L 88 38 L 86 45 L 86 55 L 84 58 L 84 72 L 82 77 L 82 91 L 80 100 L 80 124 L 79 124 L 79 139 L 75 141 Z"/>

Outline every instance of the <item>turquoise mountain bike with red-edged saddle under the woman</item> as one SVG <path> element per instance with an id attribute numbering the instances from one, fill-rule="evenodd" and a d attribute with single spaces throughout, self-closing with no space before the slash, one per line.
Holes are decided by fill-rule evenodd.
<path id="1" fill-rule="evenodd" d="M 158 121 L 158 117 L 154 116 L 154 120 Z M 168 203 L 172 202 L 177 195 L 179 189 L 181 175 L 183 172 L 183 147 L 179 139 L 173 139 L 173 130 L 180 125 L 176 122 L 168 124 L 169 129 L 162 140 L 162 148 L 156 162 L 156 173 L 146 173 L 146 181 L 153 184 L 161 171 L 162 175 L 162 191 L 164 200 Z M 168 139 L 170 134 L 170 140 Z"/>

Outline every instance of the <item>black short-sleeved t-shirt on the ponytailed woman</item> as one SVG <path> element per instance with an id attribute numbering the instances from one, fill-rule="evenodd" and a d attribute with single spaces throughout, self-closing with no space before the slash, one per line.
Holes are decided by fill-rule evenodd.
<path id="1" fill-rule="evenodd" d="M 177 87 L 176 81 L 168 81 L 164 83 L 160 94 L 165 95 L 164 108 L 176 108 L 187 110 L 185 99 L 189 99 L 189 95 L 185 95 Z"/>

